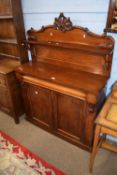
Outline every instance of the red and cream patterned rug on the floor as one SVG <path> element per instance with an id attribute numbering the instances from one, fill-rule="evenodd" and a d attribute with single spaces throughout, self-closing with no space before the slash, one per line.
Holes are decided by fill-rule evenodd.
<path id="1" fill-rule="evenodd" d="M 64 175 L 0 131 L 0 175 Z"/>

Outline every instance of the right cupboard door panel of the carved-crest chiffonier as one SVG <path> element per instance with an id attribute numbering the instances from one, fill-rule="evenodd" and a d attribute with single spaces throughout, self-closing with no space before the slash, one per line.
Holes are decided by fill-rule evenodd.
<path id="1" fill-rule="evenodd" d="M 67 95 L 57 95 L 57 133 L 73 141 L 83 135 L 84 102 Z"/>

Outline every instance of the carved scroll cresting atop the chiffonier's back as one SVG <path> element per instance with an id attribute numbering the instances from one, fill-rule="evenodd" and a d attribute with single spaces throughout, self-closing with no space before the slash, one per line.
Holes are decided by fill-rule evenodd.
<path id="1" fill-rule="evenodd" d="M 53 26 L 61 32 L 69 31 L 73 28 L 70 18 L 66 18 L 63 13 L 60 13 L 58 18 L 55 18 Z"/>

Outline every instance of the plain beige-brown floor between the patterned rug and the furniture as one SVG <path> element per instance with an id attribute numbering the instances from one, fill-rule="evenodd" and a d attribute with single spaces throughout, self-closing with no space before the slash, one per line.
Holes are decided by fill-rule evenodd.
<path id="1" fill-rule="evenodd" d="M 16 125 L 11 117 L 0 112 L 0 130 L 67 175 L 90 175 L 88 152 L 32 125 L 24 116 Z M 92 175 L 116 174 L 117 154 L 100 150 Z"/>

